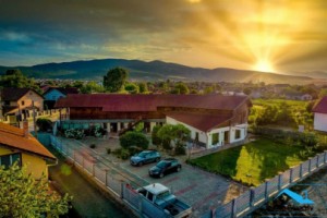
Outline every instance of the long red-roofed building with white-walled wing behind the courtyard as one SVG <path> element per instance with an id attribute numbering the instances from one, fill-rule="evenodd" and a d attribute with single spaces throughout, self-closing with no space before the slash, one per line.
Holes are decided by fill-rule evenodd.
<path id="1" fill-rule="evenodd" d="M 246 137 L 252 104 L 247 96 L 221 95 L 68 95 L 57 108 L 68 108 L 62 129 L 102 125 L 119 133 L 131 123 L 144 122 L 147 132 L 156 124 L 183 124 L 191 137 L 211 148 Z"/>

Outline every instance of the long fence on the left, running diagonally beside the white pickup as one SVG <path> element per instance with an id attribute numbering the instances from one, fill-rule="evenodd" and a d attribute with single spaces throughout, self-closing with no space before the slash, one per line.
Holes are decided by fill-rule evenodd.
<path id="1" fill-rule="evenodd" d="M 96 157 L 90 156 L 88 153 L 85 153 L 85 150 L 74 149 L 53 135 L 38 135 L 38 140 L 41 143 L 48 142 L 49 140 L 47 137 L 50 137 L 50 144 L 59 153 L 83 169 L 94 180 L 105 185 L 109 192 L 120 197 L 141 217 L 171 217 L 169 214 L 165 213 L 162 208 L 157 207 L 142 197 L 134 189 L 131 189 L 131 185 L 126 185 L 130 184 L 130 181 L 122 178 L 121 173 L 112 166 L 99 162 Z"/>

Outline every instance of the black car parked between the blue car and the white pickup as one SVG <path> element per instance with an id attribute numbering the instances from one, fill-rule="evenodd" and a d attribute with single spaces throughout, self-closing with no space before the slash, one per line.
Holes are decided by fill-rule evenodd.
<path id="1" fill-rule="evenodd" d="M 179 172 L 182 169 L 182 165 L 179 162 L 179 160 L 174 158 L 166 158 L 158 162 L 155 167 L 152 167 L 148 170 L 148 174 L 150 177 L 159 177 L 162 178 L 165 174 L 171 173 L 171 172 Z"/>

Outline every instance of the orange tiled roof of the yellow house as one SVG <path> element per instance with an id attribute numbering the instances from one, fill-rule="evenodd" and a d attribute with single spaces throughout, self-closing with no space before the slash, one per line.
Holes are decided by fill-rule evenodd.
<path id="1" fill-rule="evenodd" d="M 28 137 L 25 137 L 22 129 L 9 124 L 0 123 L 0 145 L 56 160 L 56 157 L 33 135 L 29 134 Z"/>

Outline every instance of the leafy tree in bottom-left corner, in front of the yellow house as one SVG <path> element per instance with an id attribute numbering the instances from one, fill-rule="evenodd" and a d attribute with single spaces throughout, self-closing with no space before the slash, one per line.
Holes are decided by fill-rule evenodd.
<path id="1" fill-rule="evenodd" d="M 0 167 L 0 217 L 59 217 L 68 213 L 71 199 L 51 191 L 45 177 L 27 174 L 25 167 Z"/>

